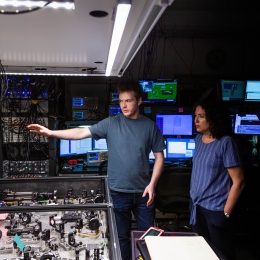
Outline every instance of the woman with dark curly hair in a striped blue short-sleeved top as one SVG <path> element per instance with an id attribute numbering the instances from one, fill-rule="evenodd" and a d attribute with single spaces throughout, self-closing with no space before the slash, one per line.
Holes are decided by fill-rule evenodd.
<path id="1" fill-rule="evenodd" d="M 193 231 L 235 260 L 234 208 L 244 189 L 242 157 L 231 137 L 228 109 L 203 100 L 194 107 L 197 132 L 191 175 Z"/>

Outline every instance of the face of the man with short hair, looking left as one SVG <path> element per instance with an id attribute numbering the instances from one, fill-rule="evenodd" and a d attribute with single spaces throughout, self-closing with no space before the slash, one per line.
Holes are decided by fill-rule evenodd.
<path id="1" fill-rule="evenodd" d="M 134 92 L 121 92 L 119 94 L 119 104 L 124 116 L 137 119 L 139 114 L 139 105 L 142 103 L 142 99 L 136 99 Z"/>

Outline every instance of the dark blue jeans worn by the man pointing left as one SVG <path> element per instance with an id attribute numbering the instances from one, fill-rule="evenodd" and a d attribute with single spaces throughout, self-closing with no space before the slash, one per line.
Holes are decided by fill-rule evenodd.
<path id="1" fill-rule="evenodd" d="M 130 233 L 132 213 L 137 222 L 137 229 L 146 231 L 149 227 L 154 225 L 154 202 L 147 207 L 146 203 L 149 199 L 149 195 L 147 194 L 143 198 L 142 193 L 111 191 L 111 197 L 114 206 L 122 260 L 132 260 Z"/>

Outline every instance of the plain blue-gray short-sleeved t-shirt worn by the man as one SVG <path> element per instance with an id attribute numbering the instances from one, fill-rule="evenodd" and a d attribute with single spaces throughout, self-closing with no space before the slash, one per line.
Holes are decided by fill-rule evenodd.
<path id="1" fill-rule="evenodd" d="M 165 149 L 164 139 L 155 122 L 143 115 L 129 119 L 119 114 L 89 129 L 94 139 L 105 138 L 107 141 L 110 189 L 143 192 L 151 180 L 149 153 Z"/>

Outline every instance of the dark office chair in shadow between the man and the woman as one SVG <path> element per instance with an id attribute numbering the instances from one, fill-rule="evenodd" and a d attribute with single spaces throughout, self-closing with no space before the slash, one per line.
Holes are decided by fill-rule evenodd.
<path id="1" fill-rule="evenodd" d="M 156 209 L 163 214 L 175 213 L 176 215 L 174 231 L 179 232 L 183 227 L 191 230 L 188 224 L 180 226 L 181 219 L 185 219 L 188 223 L 190 217 L 190 177 L 189 167 L 168 167 L 163 170 L 155 188 Z"/>

